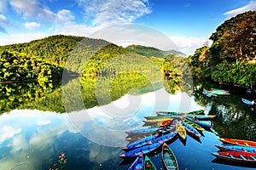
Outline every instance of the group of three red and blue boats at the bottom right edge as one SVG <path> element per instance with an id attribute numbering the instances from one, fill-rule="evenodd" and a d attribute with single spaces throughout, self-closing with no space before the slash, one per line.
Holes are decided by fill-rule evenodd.
<path id="1" fill-rule="evenodd" d="M 215 144 L 219 149 L 212 155 L 220 159 L 239 162 L 256 162 L 256 142 L 241 139 L 219 139 L 223 144 Z"/>

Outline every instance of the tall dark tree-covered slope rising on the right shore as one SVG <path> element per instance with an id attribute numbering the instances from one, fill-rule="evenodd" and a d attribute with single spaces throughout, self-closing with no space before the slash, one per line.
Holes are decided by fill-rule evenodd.
<path id="1" fill-rule="evenodd" d="M 224 21 L 210 40 L 188 58 L 195 77 L 256 88 L 256 11 Z"/>

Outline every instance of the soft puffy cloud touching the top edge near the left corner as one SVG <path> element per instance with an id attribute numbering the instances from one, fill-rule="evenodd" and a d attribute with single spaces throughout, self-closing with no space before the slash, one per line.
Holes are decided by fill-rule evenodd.
<path id="1" fill-rule="evenodd" d="M 54 20 L 55 14 L 48 8 L 41 8 L 37 0 L 10 0 L 12 8 L 23 17 L 36 17 L 46 20 Z"/>

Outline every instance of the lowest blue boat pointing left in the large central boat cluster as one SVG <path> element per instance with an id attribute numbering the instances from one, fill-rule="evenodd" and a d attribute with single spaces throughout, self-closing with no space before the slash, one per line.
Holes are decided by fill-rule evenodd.
<path id="1" fill-rule="evenodd" d="M 141 154 L 143 155 L 148 154 L 149 152 L 152 152 L 157 148 L 159 148 L 161 144 L 163 143 L 154 143 L 154 144 L 145 145 L 143 147 L 125 152 L 125 154 L 122 154 L 119 157 L 133 157 L 133 156 L 139 156 Z"/>

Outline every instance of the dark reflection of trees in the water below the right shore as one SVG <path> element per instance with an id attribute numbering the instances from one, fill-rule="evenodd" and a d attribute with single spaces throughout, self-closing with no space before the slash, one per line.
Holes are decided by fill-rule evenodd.
<path id="1" fill-rule="evenodd" d="M 203 88 L 230 89 L 228 97 L 207 98 L 201 94 Z M 256 140 L 256 115 L 247 105 L 241 102 L 245 97 L 246 89 L 219 86 L 216 84 L 202 83 L 195 88 L 195 100 L 205 105 L 210 115 L 216 115 L 214 129 L 222 138 Z M 248 96 L 246 96 L 248 97 Z M 253 96 L 249 96 L 253 98 Z"/>

